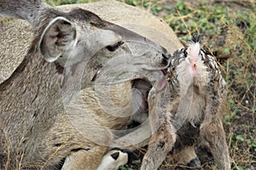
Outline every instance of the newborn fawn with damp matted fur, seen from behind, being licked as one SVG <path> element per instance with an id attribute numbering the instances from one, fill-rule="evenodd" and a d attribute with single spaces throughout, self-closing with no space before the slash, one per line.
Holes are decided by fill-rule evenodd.
<path id="1" fill-rule="evenodd" d="M 159 116 L 162 123 L 150 139 L 143 170 L 157 169 L 173 146 L 176 150 L 189 149 L 200 140 L 208 144 L 218 169 L 230 169 L 222 124 L 226 83 L 217 62 L 201 49 L 199 40 L 200 36 L 195 35 L 189 48 L 179 49 L 172 56 L 166 76 L 170 95 L 160 98 L 164 101 L 154 100 L 169 101 L 169 108 Z"/>

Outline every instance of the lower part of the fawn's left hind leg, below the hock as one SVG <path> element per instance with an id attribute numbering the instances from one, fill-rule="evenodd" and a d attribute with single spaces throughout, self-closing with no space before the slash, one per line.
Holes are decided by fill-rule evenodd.
<path id="1" fill-rule="evenodd" d="M 148 151 L 143 157 L 142 170 L 157 169 L 176 140 L 176 134 L 170 122 L 163 122 L 160 128 L 152 135 L 148 144 Z"/>

